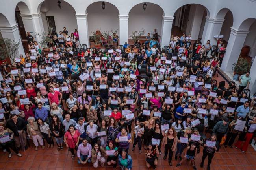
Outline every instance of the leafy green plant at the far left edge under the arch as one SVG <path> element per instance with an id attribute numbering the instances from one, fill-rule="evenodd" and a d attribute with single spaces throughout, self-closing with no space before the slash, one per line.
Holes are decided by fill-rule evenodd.
<path id="1" fill-rule="evenodd" d="M 20 46 L 20 41 L 14 41 L 9 38 L 0 39 L 0 59 L 4 60 L 10 57 L 15 60 Z"/>

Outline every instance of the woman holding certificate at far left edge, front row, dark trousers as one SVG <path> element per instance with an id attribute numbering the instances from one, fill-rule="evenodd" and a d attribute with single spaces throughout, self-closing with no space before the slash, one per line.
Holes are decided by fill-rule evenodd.
<path id="1" fill-rule="evenodd" d="M 15 143 L 13 140 L 13 131 L 11 131 L 8 128 L 4 128 L 3 125 L 0 125 L 0 144 L 3 149 L 6 149 L 8 152 L 8 157 L 11 158 L 11 150 L 15 152 L 19 157 L 22 155 L 19 153 L 19 151 L 15 147 Z M 10 150 L 11 149 L 11 150 Z"/>

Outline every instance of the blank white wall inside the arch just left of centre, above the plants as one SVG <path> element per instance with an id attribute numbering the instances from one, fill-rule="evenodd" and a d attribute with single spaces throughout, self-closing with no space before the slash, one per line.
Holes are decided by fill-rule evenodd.
<path id="1" fill-rule="evenodd" d="M 101 33 L 104 31 L 111 33 L 111 29 L 119 29 L 119 12 L 117 8 L 105 2 L 106 5 L 103 10 L 101 3 L 102 2 L 95 2 L 87 8 L 89 35 L 92 35 L 91 32 L 97 30 L 100 30 Z M 117 35 L 119 35 L 119 31 Z"/>

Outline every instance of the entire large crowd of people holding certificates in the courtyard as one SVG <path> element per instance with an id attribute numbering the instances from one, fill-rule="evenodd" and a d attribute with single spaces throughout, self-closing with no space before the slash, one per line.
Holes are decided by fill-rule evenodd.
<path id="1" fill-rule="evenodd" d="M 9 158 L 33 141 L 35 150 L 67 147 L 79 164 L 131 170 L 138 147 L 148 168 L 163 152 L 170 166 L 174 154 L 175 166 L 191 161 L 194 170 L 195 157 L 202 167 L 208 156 L 210 170 L 221 144 L 247 151 L 256 131 L 255 100 L 244 90 L 250 73 L 239 91 L 234 82 L 217 86 L 221 40 L 214 53 L 209 40 L 192 45 L 185 34 L 161 47 L 155 30 L 146 43 L 102 50 L 82 48 L 78 31 L 68 33 L 48 35 L 49 53 L 28 35 L 26 56 L 9 73 L 2 64 L 0 145 Z"/>

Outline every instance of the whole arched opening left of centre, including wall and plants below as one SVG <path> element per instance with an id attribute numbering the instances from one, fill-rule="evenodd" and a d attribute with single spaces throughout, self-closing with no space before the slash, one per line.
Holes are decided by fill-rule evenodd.
<path id="1" fill-rule="evenodd" d="M 104 2 L 105 9 L 102 9 L 101 3 L 94 2 L 86 9 L 91 47 L 95 46 L 94 32 L 102 35 L 102 45 L 113 44 L 113 33 L 119 35 L 119 11 L 117 7 L 109 2 Z"/>

